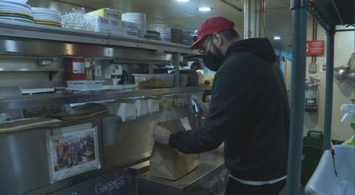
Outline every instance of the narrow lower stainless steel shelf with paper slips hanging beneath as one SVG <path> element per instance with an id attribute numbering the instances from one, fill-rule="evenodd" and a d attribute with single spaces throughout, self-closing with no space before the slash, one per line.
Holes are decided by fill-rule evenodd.
<path id="1" fill-rule="evenodd" d="M 48 105 L 63 105 L 84 102 L 95 102 L 102 100 L 117 100 L 128 97 L 140 97 L 149 95 L 165 95 L 174 93 L 197 92 L 198 86 L 170 88 L 170 89 L 122 89 L 122 90 L 103 90 L 87 92 L 71 92 L 51 94 L 23 95 L 17 97 L 0 98 L 0 112 L 14 109 L 33 108 Z"/>

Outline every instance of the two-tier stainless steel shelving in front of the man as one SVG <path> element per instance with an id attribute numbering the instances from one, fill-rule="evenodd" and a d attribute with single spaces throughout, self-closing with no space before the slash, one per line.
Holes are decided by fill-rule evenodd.
<path id="1" fill-rule="evenodd" d="M 139 37 L 113 35 L 108 32 L 91 32 L 43 26 L 12 21 L 0 22 L 0 55 L 33 57 L 102 57 L 120 59 L 125 62 L 171 62 L 179 68 L 182 57 L 198 55 L 189 46 Z M 64 68 L 0 68 L 3 72 L 37 71 L 58 72 Z M 179 69 L 178 69 L 179 70 Z M 176 71 L 178 73 L 178 71 Z M 175 81 L 178 82 L 178 81 Z M 178 86 L 178 85 L 175 85 Z M 54 93 L 24 95 L 0 98 L 0 111 L 22 109 L 34 106 L 60 105 L 70 103 L 112 100 L 144 95 L 164 95 L 171 93 L 191 93 L 198 87 L 173 89 L 123 89 L 81 93 Z"/>

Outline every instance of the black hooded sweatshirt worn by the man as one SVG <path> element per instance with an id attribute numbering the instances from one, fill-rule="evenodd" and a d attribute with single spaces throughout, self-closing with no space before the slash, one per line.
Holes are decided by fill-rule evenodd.
<path id="1" fill-rule="evenodd" d="M 236 178 L 266 181 L 286 176 L 289 107 L 284 77 L 266 38 L 227 48 L 201 127 L 171 134 L 169 145 L 186 153 L 225 142 L 225 165 Z"/>

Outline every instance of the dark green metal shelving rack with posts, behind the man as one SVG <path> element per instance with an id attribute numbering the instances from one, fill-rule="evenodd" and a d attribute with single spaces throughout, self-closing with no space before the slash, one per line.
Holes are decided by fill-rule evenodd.
<path id="1" fill-rule="evenodd" d="M 306 72 L 307 11 L 327 34 L 327 73 L 324 111 L 323 149 L 331 147 L 331 113 L 333 105 L 334 35 L 337 25 L 355 27 L 354 0 L 291 0 L 293 11 L 293 62 L 291 86 L 291 131 L 288 149 L 286 194 L 300 194 L 302 134 L 304 122 L 304 80 Z M 354 30 L 354 29 L 351 29 Z"/>

